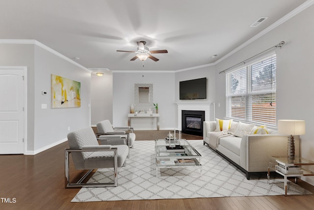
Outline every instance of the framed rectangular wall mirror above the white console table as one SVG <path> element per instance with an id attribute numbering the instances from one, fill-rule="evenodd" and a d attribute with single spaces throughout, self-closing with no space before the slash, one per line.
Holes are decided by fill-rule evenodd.
<path id="1" fill-rule="evenodd" d="M 134 102 L 138 105 L 153 104 L 153 84 L 134 84 Z"/>

